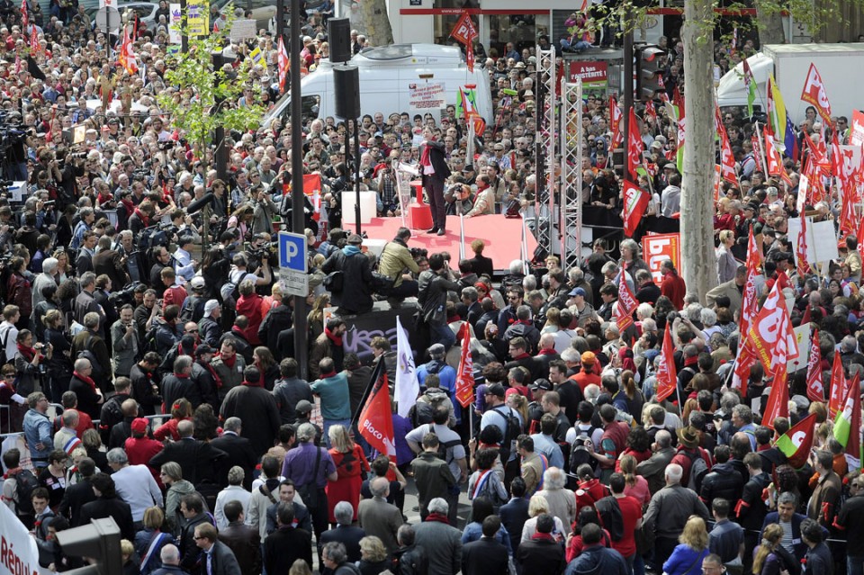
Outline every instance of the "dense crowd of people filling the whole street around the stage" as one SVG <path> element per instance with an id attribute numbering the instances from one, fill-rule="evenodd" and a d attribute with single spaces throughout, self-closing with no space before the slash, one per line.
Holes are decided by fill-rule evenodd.
<path id="1" fill-rule="evenodd" d="M 535 47 L 493 47 L 494 58 L 479 62 L 495 109 L 474 157 L 454 106 L 439 120 L 368 111 L 358 158 L 350 122 L 277 118 L 229 134 L 220 178 L 211 150 L 190 145 L 155 99 L 184 90 L 165 79 L 166 4 L 155 30 L 134 28 L 132 75 L 104 57 L 117 39 L 91 31 L 73 4 L 52 4 L 45 16 L 30 5 L 28 22 L 0 10 L 2 117 L 19 139 L 7 157 L 21 151 L 7 165 L 26 180 L 23 197 L 0 197 L 3 501 L 31 529 L 43 567 L 81 566 L 57 533 L 112 517 L 129 575 L 313 566 L 338 575 L 861 572 L 864 477 L 847 464 L 826 402 L 807 399 L 806 366 L 773 381 L 756 364 L 744 393 L 731 385 L 751 229 L 764 258 L 758 292 L 779 283 L 793 324 L 818 328 L 824 382 L 864 368 L 855 234 L 844 234 L 827 275 L 799 273 L 788 238 L 788 220 L 804 211 L 814 223 L 839 220 L 838 195 L 827 188 L 801 210 L 802 158 L 785 159 L 788 182 L 768 177 L 743 111 L 723 115 L 740 179 L 724 183 L 717 202 L 715 289 L 689 292 L 671 261 L 655 282 L 636 241 L 622 239 L 609 102 L 596 93 L 583 108 L 583 187 L 567 192 L 581 192 L 587 223 L 614 233 L 581 265 L 514 255 L 501 276 L 482 240 L 454 264 L 410 241 L 446 234 L 448 214 L 533 220 L 545 202 L 535 176 Z M 218 11 L 211 20 L 226 22 Z M 324 15 L 305 14 L 302 30 L 304 65 L 314 69 L 328 55 Z M 591 39 L 577 30 L 570 40 L 585 49 L 576 44 Z M 368 45 L 356 31 L 352 43 Z M 562 48 L 546 36 L 538 45 Z M 663 39 L 662 49 L 671 97 L 683 48 Z M 717 42 L 716 67 L 749 50 Z M 229 105 L 272 107 L 272 37 L 229 52 L 252 77 Z M 659 100 L 656 110 L 639 108 L 649 150 L 640 184 L 652 197 L 636 239 L 677 229 L 680 211 L 676 128 Z M 76 126 L 83 143 L 67 140 Z M 797 128 L 816 147 L 834 132 L 848 138 L 846 118 L 824 125 L 815 110 Z M 292 129 L 303 130 L 304 172 L 321 182 L 305 229 L 308 378 L 294 356 L 293 298 L 271 264 Z M 343 229 L 339 192 L 354 185 L 358 161 L 379 214 L 400 215 L 393 159 L 419 168 L 434 227 L 402 228 L 374 257 Z M 206 215 L 191 209 L 208 193 Z M 639 303 L 621 329 L 619 282 Z M 401 359 L 385 337 L 371 341 L 372 357 L 348 352 L 342 316 L 370 312 L 376 300 L 414 305 L 415 296 L 420 393 L 408 417 L 392 416 L 392 461 L 372 452 L 356 416 L 370 361 L 394 382 Z M 678 390 L 659 401 L 667 327 Z M 468 408 L 455 394 L 465 338 L 482 382 Z M 778 385 L 789 387 L 789 417 L 764 421 Z M 795 468 L 774 442 L 808 413 L 814 450 Z M 416 525 L 406 522 L 406 490 L 417 492 Z"/>

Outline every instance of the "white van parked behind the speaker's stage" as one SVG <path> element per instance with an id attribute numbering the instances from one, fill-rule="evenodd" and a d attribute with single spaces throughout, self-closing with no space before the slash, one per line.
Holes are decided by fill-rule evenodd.
<path id="1" fill-rule="evenodd" d="M 410 85 L 423 83 L 444 84 L 447 104 L 455 104 L 459 88 L 476 85 L 477 111 L 488 122 L 493 120 L 492 96 L 489 76 L 480 64 L 473 73 L 465 65 L 462 51 L 452 46 L 437 44 L 394 44 L 382 48 L 365 49 L 351 58 L 360 76 L 361 115 L 382 112 L 386 118 L 392 112 L 416 113 L 437 110 L 412 109 Z M 301 81 L 302 114 L 304 120 L 336 116 L 336 96 L 333 85 L 333 64 L 322 59 L 320 66 Z M 273 110 L 267 112 L 262 124 L 291 113 L 291 93 L 284 94 Z"/>

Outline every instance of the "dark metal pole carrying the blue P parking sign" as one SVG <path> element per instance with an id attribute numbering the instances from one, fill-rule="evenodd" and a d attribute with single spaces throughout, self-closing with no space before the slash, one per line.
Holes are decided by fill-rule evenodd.
<path id="1" fill-rule="evenodd" d="M 285 2 L 285 0 L 278 0 Z M 303 111 L 300 92 L 300 0 L 291 0 L 291 229 L 302 234 L 303 218 Z M 294 296 L 294 358 L 306 379 L 309 345 L 306 335 L 306 297 Z"/>

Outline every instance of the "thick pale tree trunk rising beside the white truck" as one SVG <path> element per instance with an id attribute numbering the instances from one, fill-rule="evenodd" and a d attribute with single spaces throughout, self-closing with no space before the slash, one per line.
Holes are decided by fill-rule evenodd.
<path id="1" fill-rule="evenodd" d="M 705 294 L 717 283 L 714 251 L 713 189 L 715 165 L 713 62 L 714 3 L 684 4 L 684 105 L 686 134 L 681 184 L 681 273 L 687 291 Z"/>

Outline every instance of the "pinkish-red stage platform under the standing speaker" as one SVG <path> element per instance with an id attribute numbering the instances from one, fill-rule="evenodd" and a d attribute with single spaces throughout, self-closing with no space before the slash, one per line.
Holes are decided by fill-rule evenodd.
<path id="1" fill-rule="evenodd" d="M 482 239 L 486 243 L 483 256 L 491 258 L 496 270 L 507 270 L 510 262 L 521 257 L 521 218 L 505 218 L 503 215 L 495 214 L 469 218 L 464 222 L 466 257 L 473 257 L 471 242 L 475 239 Z M 401 218 L 373 218 L 370 223 L 362 224 L 360 228 L 369 238 L 390 241 L 401 225 Z M 447 230 L 444 236 L 427 234 L 420 229 L 412 229 L 411 233 L 413 236 L 409 247 L 424 247 L 429 250 L 429 253 L 450 252 L 455 268 L 459 260 L 459 218 L 457 216 L 447 217 Z M 527 253 L 530 257 L 537 247 L 537 240 L 530 230 L 527 230 L 526 238 Z"/>

